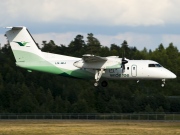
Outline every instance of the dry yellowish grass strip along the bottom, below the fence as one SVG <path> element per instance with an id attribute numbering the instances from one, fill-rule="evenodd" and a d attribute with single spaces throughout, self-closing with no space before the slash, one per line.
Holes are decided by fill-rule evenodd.
<path id="1" fill-rule="evenodd" d="M 180 135 L 180 122 L 1 120 L 0 135 Z"/>

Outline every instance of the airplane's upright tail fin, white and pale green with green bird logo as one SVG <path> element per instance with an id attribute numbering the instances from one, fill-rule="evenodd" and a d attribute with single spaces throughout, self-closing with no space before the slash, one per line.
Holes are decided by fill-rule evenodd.
<path id="1" fill-rule="evenodd" d="M 31 62 L 42 59 L 41 50 L 26 27 L 7 27 L 6 32 L 16 62 Z"/>

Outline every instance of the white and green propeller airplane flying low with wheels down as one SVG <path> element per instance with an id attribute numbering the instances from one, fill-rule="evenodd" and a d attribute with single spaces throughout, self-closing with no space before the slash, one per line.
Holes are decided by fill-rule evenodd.
<path id="1" fill-rule="evenodd" d="M 176 75 L 153 60 L 130 60 L 118 56 L 100 57 L 84 54 L 82 58 L 42 52 L 24 26 L 6 27 L 5 34 L 13 51 L 16 65 L 27 69 L 62 76 L 95 79 L 94 86 L 108 85 L 107 80 L 162 80 L 174 79 Z"/>

